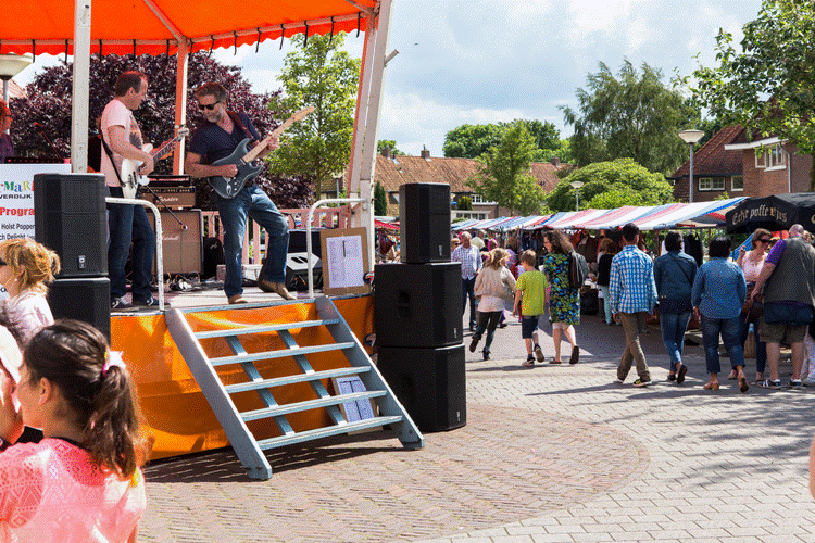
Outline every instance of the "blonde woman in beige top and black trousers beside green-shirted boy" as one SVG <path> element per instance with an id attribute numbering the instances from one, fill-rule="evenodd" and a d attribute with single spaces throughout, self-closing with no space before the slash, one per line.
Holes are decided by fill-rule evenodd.
<path id="1" fill-rule="evenodd" d="M 474 290 L 476 296 L 481 296 L 481 300 L 478 302 L 478 325 L 469 343 L 469 352 L 475 352 L 486 330 L 487 340 L 484 342 L 482 351 L 485 361 L 490 358 L 490 345 L 498 321 L 504 312 L 504 301 L 515 295 L 515 278 L 505 266 L 509 256 L 505 249 L 493 249 L 489 252 L 481 272 L 476 276 Z"/>

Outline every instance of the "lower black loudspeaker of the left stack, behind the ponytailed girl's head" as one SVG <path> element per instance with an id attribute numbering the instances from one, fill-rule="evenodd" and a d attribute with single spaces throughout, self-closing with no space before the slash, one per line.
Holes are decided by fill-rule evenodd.
<path id="1" fill-rule="evenodd" d="M 48 288 L 54 318 L 83 320 L 111 340 L 111 281 L 106 277 L 54 279 Z"/>

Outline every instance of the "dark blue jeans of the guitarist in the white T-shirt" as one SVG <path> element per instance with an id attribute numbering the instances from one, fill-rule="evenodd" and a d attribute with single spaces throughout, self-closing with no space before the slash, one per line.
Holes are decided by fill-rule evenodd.
<path id="1" fill-rule="evenodd" d="M 113 198 L 123 198 L 122 187 L 108 187 Z M 133 243 L 130 282 L 133 299 L 150 300 L 150 279 L 153 275 L 155 232 L 141 205 L 108 204 L 108 277 L 111 281 L 111 300 L 127 293 L 125 264 Z M 79 235 L 77 232 L 77 235 Z"/>

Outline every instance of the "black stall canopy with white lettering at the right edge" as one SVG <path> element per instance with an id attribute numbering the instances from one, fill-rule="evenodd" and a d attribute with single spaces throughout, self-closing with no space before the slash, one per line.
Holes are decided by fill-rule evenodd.
<path id="1" fill-rule="evenodd" d="M 800 224 L 815 232 L 815 193 L 794 192 L 765 198 L 748 198 L 725 215 L 728 233 L 788 230 Z"/>

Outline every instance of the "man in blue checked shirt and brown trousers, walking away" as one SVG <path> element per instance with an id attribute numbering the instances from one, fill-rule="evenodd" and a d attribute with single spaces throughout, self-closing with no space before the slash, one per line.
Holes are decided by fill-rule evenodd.
<path id="1" fill-rule="evenodd" d="M 640 336 L 645 331 L 645 320 L 656 306 L 656 283 L 651 257 L 637 249 L 640 229 L 634 223 L 623 227 L 623 251 L 614 255 L 611 265 L 609 290 L 611 311 L 614 320 L 623 323 L 626 332 L 626 349 L 617 367 L 617 382 L 625 381 L 631 370 L 631 362 L 637 362 L 639 379 L 635 387 L 651 384 L 651 372 L 645 362 L 645 353 L 640 345 Z"/>

